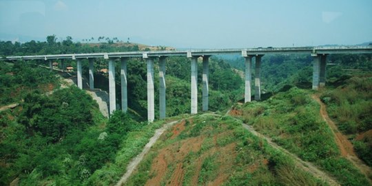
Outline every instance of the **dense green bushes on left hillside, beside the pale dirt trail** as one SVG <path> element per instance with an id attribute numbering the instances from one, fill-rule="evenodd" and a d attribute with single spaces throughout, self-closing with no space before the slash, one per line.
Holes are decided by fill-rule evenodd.
<path id="1" fill-rule="evenodd" d="M 145 123 L 121 111 L 106 123 L 96 110 L 90 96 L 70 87 L 50 96 L 29 94 L 16 112 L 2 113 L 1 185 L 17 177 L 20 185 L 96 185 L 109 181 L 100 176 L 119 178 L 159 125 L 141 130 Z"/>

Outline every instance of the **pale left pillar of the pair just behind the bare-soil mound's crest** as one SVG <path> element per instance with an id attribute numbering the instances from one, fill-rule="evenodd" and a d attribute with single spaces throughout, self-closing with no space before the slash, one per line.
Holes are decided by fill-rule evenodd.
<path id="1" fill-rule="evenodd" d="M 191 103 L 191 114 L 198 114 L 198 57 L 192 56 L 191 63 L 191 89 L 192 89 L 192 103 Z"/>

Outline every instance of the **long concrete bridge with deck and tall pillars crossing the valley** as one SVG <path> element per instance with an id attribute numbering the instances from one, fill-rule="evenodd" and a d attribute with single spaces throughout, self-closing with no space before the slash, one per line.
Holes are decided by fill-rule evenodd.
<path id="1" fill-rule="evenodd" d="M 93 63 L 96 58 L 107 59 L 109 63 L 109 96 L 110 114 L 116 110 L 115 96 L 115 60 L 121 61 L 121 104 L 123 112 L 127 112 L 127 60 L 143 58 L 147 61 L 147 119 L 154 121 L 154 59 L 159 59 L 159 105 L 160 118 L 165 118 L 165 58 L 167 56 L 185 56 L 191 59 L 191 113 L 198 113 L 198 58 L 203 58 L 203 111 L 208 110 L 209 95 L 209 56 L 216 54 L 241 54 L 245 58 L 245 103 L 251 101 L 251 63 L 256 60 L 254 99 L 260 100 L 260 64 L 265 54 L 311 54 L 313 56 L 313 90 L 325 85 L 328 54 L 372 54 L 372 46 L 340 46 L 340 47 L 302 47 L 302 48 L 242 48 L 223 50 L 189 50 L 189 51 L 149 51 L 149 52 L 110 52 L 91 54 L 53 54 L 37 56 L 7 56 L 8 61 L 72 59 L 77 63 L 77 84 L 83 88 L 81 78 L 81 60 L 89 60 L 90 89 L 94 88 Z"/>

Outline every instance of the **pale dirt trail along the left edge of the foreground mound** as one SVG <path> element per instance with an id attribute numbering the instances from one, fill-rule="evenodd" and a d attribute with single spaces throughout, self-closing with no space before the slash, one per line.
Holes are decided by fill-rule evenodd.
<path id="1" fill-rule="evenodd" d="M 147 152 L 149 152 L 149 149 L 154 145 L 154 143 L 158 140 L 158 138 L 163 134 L 169 127 L 174 125 L 174 123 L 178 123 L 179 121 L 172 121 L 170 123 L 167 123 L 163 125 L 163 127 L 159 128 L 158 130 L 155 130 L 154 136 L 149 139 L 149 142 L 143 147 L 143 151 L 141 154 L 138 154 L 135 158 L 130 161 L 130 163 L 127 166 L 127 172 L 121 177 L 121 179 L 116 183 L 116 185 L 123 185 L 127 179 L 130 177 L 134 169 L 138 166 L 138 164 L 142 161 L 143 157 Z"/>

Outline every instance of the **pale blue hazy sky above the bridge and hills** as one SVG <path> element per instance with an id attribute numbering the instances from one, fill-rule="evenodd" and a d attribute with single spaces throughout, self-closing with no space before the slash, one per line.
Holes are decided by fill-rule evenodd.
<path id="1" fill-rule="evenodd" d="M 0 0 L 1 41 L 98 37 L 175 48 L 372 41 L 371 0 Z"/>

